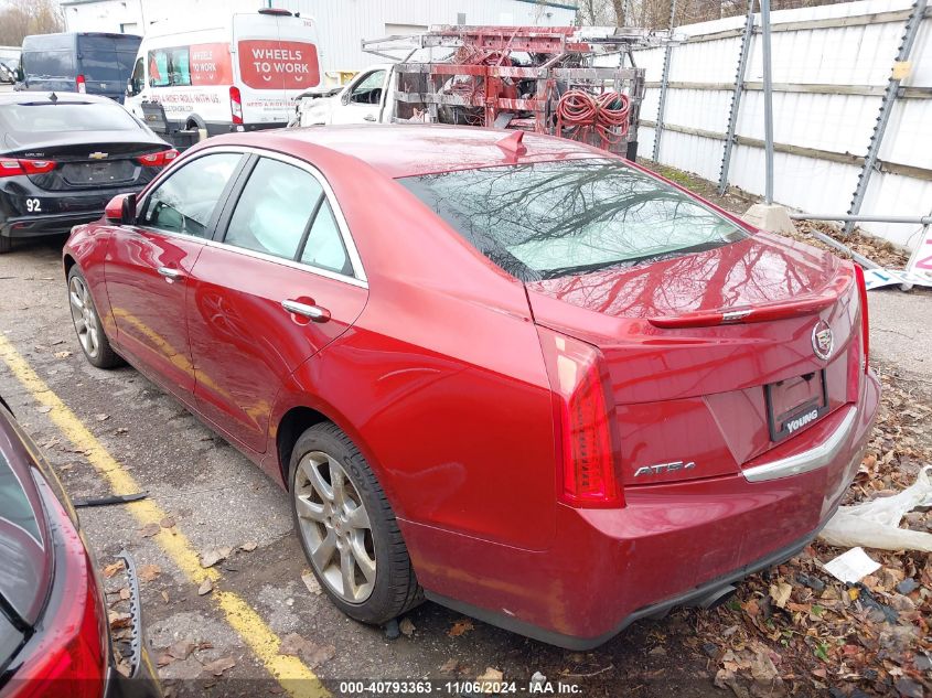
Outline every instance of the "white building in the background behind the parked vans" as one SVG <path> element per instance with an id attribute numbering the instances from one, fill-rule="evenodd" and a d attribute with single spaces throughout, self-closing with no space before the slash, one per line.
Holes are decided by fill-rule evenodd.
<path id="1" fill-rule="evenodd" d="M 271 6 L 312 17 L 321 63 L 358 71 L 378 61 L 360 47 L 363 39 L 414 33 L 430 24 L 565 26 L 576 19 L 576 0 L 63 0 L 69 32 L 144 34 L 153 22 L 212 12 L 251 12 Z"/>

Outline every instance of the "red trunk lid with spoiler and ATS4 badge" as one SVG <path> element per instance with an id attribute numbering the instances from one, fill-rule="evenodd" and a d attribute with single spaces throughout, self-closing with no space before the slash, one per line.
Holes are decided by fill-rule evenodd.
<path id="1" fill-rule="evenodd" d="M 625 485 L 740 472 L 853 399 L 854 272 L 808 246 L 757 234 L 526 287 L 538 324 L 601 351 Z"/>

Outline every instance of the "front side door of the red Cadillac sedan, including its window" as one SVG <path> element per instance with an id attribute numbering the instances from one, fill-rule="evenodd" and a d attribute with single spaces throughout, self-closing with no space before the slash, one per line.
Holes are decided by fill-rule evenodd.
<path id="1" fill-rule="evenodd" d="M 194 390 L 184 322 L 189 278 L 213 233 L 240 153 L 202 155 L 170 172 L 114 228 L 105 262 L 119 351 L 182 399 Z"/>

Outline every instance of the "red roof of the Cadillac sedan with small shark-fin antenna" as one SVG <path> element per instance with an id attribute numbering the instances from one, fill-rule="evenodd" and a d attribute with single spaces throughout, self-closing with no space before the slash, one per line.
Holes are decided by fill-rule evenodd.
<path id="1" fill-rule="evenodd" d="M 357 158 L 393 179 L 517 162 L 613 157 L 577 141 L 529 132 L 522 137 L 526 152 L 519 155 L 499 147 L 502 139 L 514 138 L 518 132 L 471 126 L 394 124 L 275 129 L 223 140 L 256 147 L 269 147 L 263 142 L 266 139 L 288 140 L 294 146 L 294 154 L 299 154 L 302 143 L 321 146 Z"/>

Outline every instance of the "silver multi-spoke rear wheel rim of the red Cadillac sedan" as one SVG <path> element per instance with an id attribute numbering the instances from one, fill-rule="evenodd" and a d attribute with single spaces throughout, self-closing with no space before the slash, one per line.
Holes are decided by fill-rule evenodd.
<path id="1" fill-rule="evenodd" d="M 363 603 L 375 586 L 375 546 L 365 504 L 343 466 L 322 451 L 306 454 L 293 497 L 318 576 L 344 601 Z"/>

